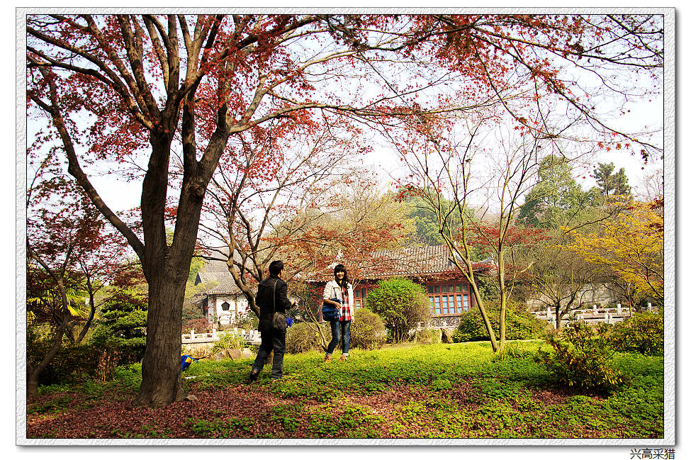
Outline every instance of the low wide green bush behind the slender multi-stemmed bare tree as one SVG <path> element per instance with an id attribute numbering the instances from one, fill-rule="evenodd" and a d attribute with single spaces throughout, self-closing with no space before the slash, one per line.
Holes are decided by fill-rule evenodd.
<path id="1" fill-rule="evenodd" d="M 499 338 L 499 303 L 485 302 L 485 311 L 490 318 L 495 335 Z M 506 340 L 544 339 L 549 323 L 534 318 L 524 305 L 509 301 L 506 309 Z M 475 342 L 490 340 L 479 308 L 462 313 L 459 325 L 454 331 L 454 342 Z"/>

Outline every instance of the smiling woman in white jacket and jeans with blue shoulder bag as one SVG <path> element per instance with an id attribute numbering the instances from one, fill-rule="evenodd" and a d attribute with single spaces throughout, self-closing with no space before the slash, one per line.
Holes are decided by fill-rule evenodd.
<path id="1" fill-rule="evenodd" d="M 331 299 L 337 299 L 332 301 Z M 334 267 L 334 279 L 329 281 L 324 288 L 324 303 L 329 303 L 339 308 L 341 313 L 340 320 L 331 322 L 331 342 L 326 349 L 324 362 L 331 361 L 331 354 L 336 349 L 336 345 L 343 337 L 343 353 L 341 361 L 347 361 L 350 351 L 350 323 L 355 315 L 353 306 L 353 285 L 348 281 L 348 271 L 345 266 L 338 264 Z"/>

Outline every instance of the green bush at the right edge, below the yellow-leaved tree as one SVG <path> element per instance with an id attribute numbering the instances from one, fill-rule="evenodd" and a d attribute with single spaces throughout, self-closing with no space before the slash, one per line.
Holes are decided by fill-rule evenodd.
<path id="1" fill-rule="evenodd" d="M 665 326 L 658 313 L 635 313 L 618 322 L 607 334 L 612 349 L 648 356 L 662 356 L 665 349 Z"/>

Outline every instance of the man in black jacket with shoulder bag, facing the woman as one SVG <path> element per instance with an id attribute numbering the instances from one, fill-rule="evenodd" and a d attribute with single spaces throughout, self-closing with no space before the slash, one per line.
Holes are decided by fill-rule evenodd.
<path id="1" fill-rule="evenodd" d="M 259 307 L 259 332 L 262 332 L 262 344 L 259 346 L 257 358 L 254 359 L 249 381 L 257 380 L 259 372 L 266 364 L 266 357 L 274 350 L 274 365 L 271 366 L 271 380 L 278 380 L 283 376 L 283 354 L 286 352 L 286 330 L 276 330 L 271 327 L 274 312 L 285 314 L 293 305 L 288 300 L 288 284 L 283 281 L 283 262 L 274 260 L 269 264 L 269 278 L 264 279 L 257 287 L 255 301 Z"/>

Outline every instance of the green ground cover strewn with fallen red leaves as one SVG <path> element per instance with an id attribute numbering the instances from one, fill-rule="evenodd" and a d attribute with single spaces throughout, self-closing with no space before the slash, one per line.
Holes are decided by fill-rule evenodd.
<path id="1" fill-rule="evenodd" d="M 556 383 L 539 340 L 401 344 L 286 355 L 285 376 L 247 385 L 248 359 L 201 360 L 184 373 L 196 400 L 135 408 L 138 364 L 107 383 L 40 387 L 27 405 L 28 438 L 658 438 L 663 361 L 615 353 L 627 376 L 611 393 Z M 194 398 L 193 398 L 194 399 Z"/>

